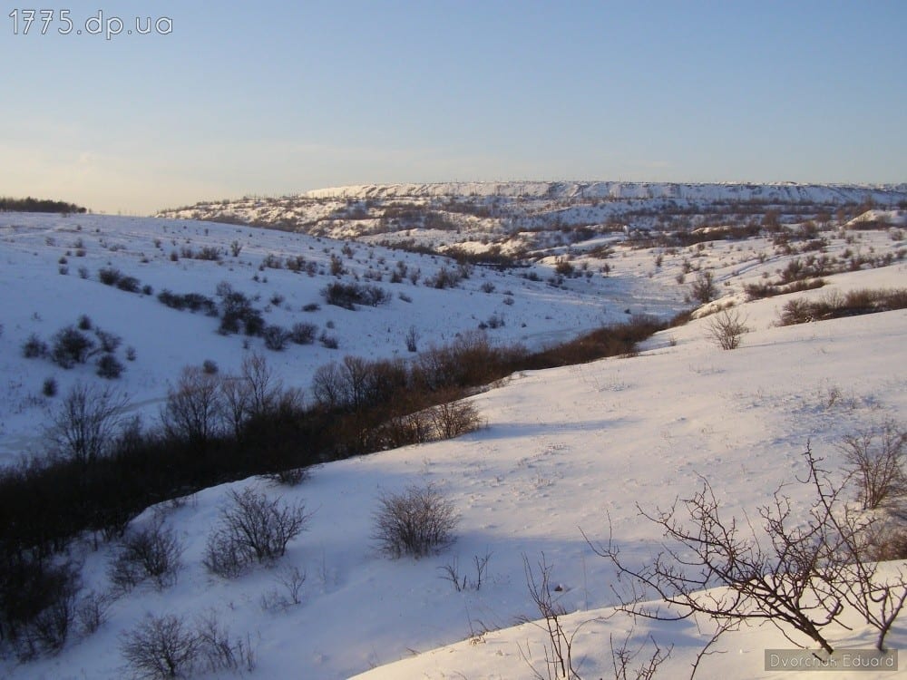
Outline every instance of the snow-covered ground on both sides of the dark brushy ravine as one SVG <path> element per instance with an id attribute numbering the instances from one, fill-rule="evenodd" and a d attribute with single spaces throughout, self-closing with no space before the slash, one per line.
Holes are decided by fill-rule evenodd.
<path id="1" fill-rule="evenodd" d="M 888 231 L 837 229 L 824 236 L 830 257 L 848 250 L 878 257 L 904 248 L 903 236 Z M 238 257 L 229 255 L 233 241 L 241 245 Z M 227 254 L 219 262 L 171 260 L 171 251 L 204 246 Z M 506 323 L 488 331 L 495 340 L 540 345 L 619 321 L 628 309 L 669 316 L 685 306 L 693 275 L 684 284 L 678 275 L 689 263 L 713 272 L 721 301 L 735 301 L 751 330 L 741 348 L 725 352 L 707 339 L 707 319 L 694 319 L 653 336 L 639 355 L 513 374 L 472 397 L 488 424 L 459 439 L 333 462 L 293 488 L 251 479 L 147 510 L 134 520 L 136 526 L 162 516 L 185 545 L 178 582 L 163 590 L 136 588 L 112 604 L 108 620 L 92 636 L 74 637 L 51 658 L 24 665 L 6 660 L 0 675 L 128 676 L 120 652 L 125 631 L 150 615 L 191 621 L 213 613 L 254 648 L 252 677 L 474 680 L 532 678 L 537 671 L 547 676 L 545 634 L 532 623 L 517 625 L 538 618 L 524 559 L 532 566 L 544 559 L 569 612 L 566 626 L 571 631 L 581 626 L 573 651 L 580 675 L 613 676 L 610 636 L 624 639 L 633 622 L 610 608 L 613 568 L 594 554 L 583 533 L 592 540 L 607 538 L 610 519 L 622 556 L 641 562 L 658 550 L 660 533 L 639 517 L 637 503 L 647 510 L 666 508 L 695 491 L 702 477 L 728 516 L 754 516 L 783 483 L 789 483 L 785 493 L 795 509 L 805 511 L 808 490 L 794 480 L 805 469 L 807 442 L 836 469 L 843 459 L 835 443 L 845 434 L 886 419 L 907 421 L 907 311 L 778 327 L 778 311 L 790 296 L 746 302 L 742 292 L 746 283 L 765 280 L 764 274 L 775 277 L 798 257 L 779 254 L 767 238 L 674 252 L 615 242 L 608 276 L 600 273 L 600 261 L 580 252 L 572 263 L 581 267 L 588 260 L 593 276 L 568 278 L 562 286 L 546 282 L 555 267 L 551 257 L 533 265 L 538 281 L 521 277 L 520 270 L 476 267 L 460 287 L 444 290 L 407 279 L 391 284 L 386 270 L 382 281 L 366 278 L 369 268 L 392 271 L 398 261 L 432 277 L 444 267 L 440 258 L 356 242 L 348 244 L 347 253 L 343 248 L 327 238 L 207 222 L 0 214 L 0 375 L 7 385 L 0 397 L 0 454 L 8 461 L 41 451 L 42 423 L 60 399 L 42 395 L 46 377 L 56 377 L 60 393 L 77 379 L 93 377 L 91 366 L 63 371 L 46 359 L 25 360 L 20 352 L 29 334 L 47 339 L 80 315 L 135 348 L 136 358 L 124 361 L 118 384 L 149 420 L 182 366 L 206 359 L 225 371 L 239 365 L 242 336 L 219 335 L 216 319 L 171 310 L 154 296 L 103 286 L 97 278 L 101 267 L 137 277 L 154 294 L 169 288 L 213 297 L 218 283 L 227 280 L 260 296 L 258 306 L 269 307 L 268 323 L 317 324 L 338 338 L 339 349 L 316 343 L 266 354 L 285 383 L 303 388 L 318 365 L 346 354 L 408 355 L 404 338 L 413 325 L 421 348 L 500 314 Z M 312 260 L 315 275 L 259 269 L 269 254 Z M 349 270 L 346 280 L 356 273 L 363 283 L 388 289 L 392 302 L 355 312 L 324 304 L 318 291 L 332 280 L 332 255 Z M 59 267 L 68 267 L 64 276 Z M 88 277 L 79 276 L 79 267 L 88 269 Z M 844 292 L 905 287 L 907 264 L 893 257 L 886 267 L 824 278 L 828 286 L 795 296 L 819 297 L 832 287 Z M 483 284 L 493 291 L 483 290 Z M 283 299 L 273 302 L 275 295 Z M 320 308 L 301 311 L 310 303 Z M 249 348 L 263 351 L 260 342 L 253 338 Z M 379 497 L 428 482 L 460 514 L 455 542 L 424 559 L 386 558 L 372 539 Z M 273 568 L 256 568 L 230 581 L 212 577 L 201 564 L 206 540 L 227 492 L 247 486 L 304 502 L 314 512 L 310 527 Z M 73 555 L 83 560 L 85 588 L 109 588 L 111 550 L 85 546 Z M 454 568 L 474 580 L 474 560 L 485 557 L 481 588 L 458 592 L 443 578 Z M 306 574 L 301 601 L 275 606 L 285 591 L 281 579 L 293 567 Z M 854 623 L 853 630 L 833 632 L 836 646 L 872 646 L 871 631 Z M 645 644 L 651 634 L 659 646 L 673 645 L 658 676 L 686 677 L 711 632 L 707 620 L 639 621 L 632 644 Z M 905 620 L 888 641 L 907 647 Z M 701 661 L 697 677 L 795 677 L 769 675 L 763 667 L 764 649 L 789 646 L 774 627 L 744 627 L 721 638 L 716 654 Z"/>

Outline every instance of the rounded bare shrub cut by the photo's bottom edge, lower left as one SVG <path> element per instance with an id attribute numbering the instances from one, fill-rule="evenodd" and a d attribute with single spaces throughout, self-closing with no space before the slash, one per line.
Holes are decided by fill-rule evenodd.
<path id="1" fill-rule="evenodd" d="M 121 637 L 120 651 L 137 680 L 191 675 L 200 661 L 199 634 L 181 617 L 147 617 Z"/>

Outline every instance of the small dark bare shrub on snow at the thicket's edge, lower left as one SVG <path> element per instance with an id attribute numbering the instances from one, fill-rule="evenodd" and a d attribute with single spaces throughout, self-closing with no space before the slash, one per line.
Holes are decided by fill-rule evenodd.
<path id="1" fill-rule="evenodd" d="M 148 527 L 133 529 L 122 538 L 110 565 L 111 582 L 130 590 L 151 578 L 157 588 L 167 588 L 176 583 L 183 549 L 173 529 L 156 518 Z"/>

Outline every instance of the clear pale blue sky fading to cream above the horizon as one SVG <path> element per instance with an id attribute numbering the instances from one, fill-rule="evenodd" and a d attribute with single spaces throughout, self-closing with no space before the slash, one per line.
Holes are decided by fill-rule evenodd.
<path id="1" fill-rule="evenodd" d="M 905 0 L 57 5 L 0 16 L 0 195 L 907 181 Z"/>

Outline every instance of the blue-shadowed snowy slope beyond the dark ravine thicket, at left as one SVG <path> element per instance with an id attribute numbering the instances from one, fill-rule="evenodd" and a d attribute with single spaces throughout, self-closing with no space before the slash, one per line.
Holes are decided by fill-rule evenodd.
<path id="1" fill-rule="evenodd" d="M 241 248 L 238 257 L 230 255 L 234 243 Z M 215 248 L 222 257 L 217 262 L 184 257 L 186 248 L 194 253 Z M 313 274 L 290 271 L 285 265 L 265 267 L 262 263 L 268 257 L 280 263 L 303 257 L 313 264 Z M 346 271 L 342 277 L 331 276 L 331 257 L 342 262 Z M 496 316 L 502 325 L 490 331 L 493 340 L 541 345 L 620 321 L 629 307 L 637 313 L 669 316 L 683 305 L 678 290 L 653 286 L 634 275 L 551 287 L 545 279 L 551 277 L 553 264 L 536 267 L 538 281 L 519 276 L 524 271 L 476 267 L 458 287 L 439 290 L 427 281 L 443 267 L 455 268 L 443 257 L 268 229 L 165 219 L 0 213 L 0 264 L 4 299 L 0 374 L 6 384 L 0 395 L 0 460 L 39 448 L 35 423 L 46 420 L 54 408 L 53 400 L 41 393 L 45 378 L 54 377 L 60 393 L 66 393 L 76 380 L 94 374 L 92 365 L 62 371 L 47 360 L 25 360 L 21 347 L 29 335 L 50 342 L 54 333 L 76 324 L 82 315 L 120 335 L 123 349 L 134 347 L 136 359 L 123 362 L 127 370 L 117 384 L 133 404 L 144 404 L 140 412 L 151 420 L 183 366 L 209 359 L 224 371 L 237 369 L 243 338 L 219 335 L 217 319 L 161 305 L 155 296 L 164 289 L 214 298 L 218 284 L 227 281 L 256 300 L 268 324 L 287 328 L 314 324 L 319 333 L 336 338 L 336 350 L 315 343 L 268 352 L 269 362 L 286 376 L 288 385 L 303 389 L 318 366 L 344 355 L 409 356 L 405 336 L 410 328 L 419 336 L 419 348 L 425 349 L 450 343 L 457 334 Z M 391 274 L 401 266 L 406 277 L 390 283 Z M 102 285 L 98 272 L 103 268 L 136 277 L 141 286 L 151 286 L 152 294 Z M 410 275 L 418 276 L 416 284 Z M 356 311 L 328 306 L 320 291 L 336 280 L 379 286 L 393 299 Z M 311 304 L 320 308 L 303 311 Z M 262 341 L 250 339 L 249 350 L 264 351 Z M 122 355 L 121 350 L 121 359 Z"/>

